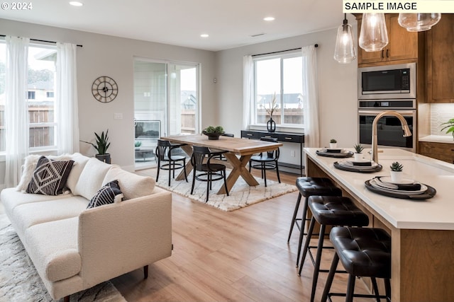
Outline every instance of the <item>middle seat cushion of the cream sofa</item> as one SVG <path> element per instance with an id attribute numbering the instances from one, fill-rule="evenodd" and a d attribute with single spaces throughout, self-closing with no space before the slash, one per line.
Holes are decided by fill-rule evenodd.
<path id="1" fill-rule="evenodd" d="M 21 204 L 13 211 L 12 219 L 21 231 L 35 224 L 77 217 L 87 208 L 87 199 L 82 196 Z M 18 231 L 18 230 L 16 230 Z"/>

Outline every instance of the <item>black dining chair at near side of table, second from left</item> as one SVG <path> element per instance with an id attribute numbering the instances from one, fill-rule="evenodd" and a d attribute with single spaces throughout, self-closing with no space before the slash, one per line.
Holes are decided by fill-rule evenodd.
<path id="1" fill-rule="evenodd" d="M 221 163 L 211 163 L 211 158 L 219 156 L 221 153 L 226 151 L 211 152 L 207 147 L 193 146 L 191 163 L 194 167 L 192 174 L 192 187 L 191 194 L 194 192 L 195 181 L 206 182 L 206 201 L 208 202 L 209 191 L 211 190 L 211 182 L 223 179 L 224 187 L 227 192 L 226 182 L 226 166 Z"/>

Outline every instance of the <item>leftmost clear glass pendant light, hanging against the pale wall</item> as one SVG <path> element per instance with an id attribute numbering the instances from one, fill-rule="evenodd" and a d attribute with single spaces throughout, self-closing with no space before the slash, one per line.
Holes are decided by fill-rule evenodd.
<path id="1" fill-rule="evenodd" d="M 347 14 L 344 14 L 343 24 L 338 28 L 334 59 L 343 64 L 352 62 L 356 58 L 355 43 L 353 43 L 352 25 L 348 24 Z"/>

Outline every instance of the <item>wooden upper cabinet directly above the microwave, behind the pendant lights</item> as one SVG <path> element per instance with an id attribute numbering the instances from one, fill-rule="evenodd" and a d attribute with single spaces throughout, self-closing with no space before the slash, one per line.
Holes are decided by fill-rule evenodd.
<path id="1" fill-rule="evenodd" d="M 358 40 L 361 30 L 362 15 L 358 16 Z M 378 52 L 366 52 L 358 47 L 358 65 L 386 63 L 418 58 L 418 33 L 410 33 L 397 22 L 399 14 L 386 14 L 388 45 Z"/>

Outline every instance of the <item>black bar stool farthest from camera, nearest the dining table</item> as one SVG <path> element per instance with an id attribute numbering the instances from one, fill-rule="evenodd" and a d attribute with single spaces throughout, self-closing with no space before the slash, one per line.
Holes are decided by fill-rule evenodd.
<path id="1" fill-rule="evenodd" d="M 292 223 L 290 224 L 289 238 L 287 239 L 287 243 L 289 243 L 290 241 L 290 236 L 292 236 L 293 227 L 296 224 L 297 228 L 300 231 L 297 255 L 298 267 L 299 263 L 298 260 L 299 255 L 301 254 L 303 236 L 306 235 L 306 233 L 304 233 L 304 226 L 306 225 L 306 221 L 310 221 L 310 219 L 306 218 L 308 198 L 312 195 L 342 196 L 342 190 L 336 187 L 336 185 L 334 185 L 334 183 L 329 178 L 301 177 L 297 178 L 296 185 L 298 187 L 299 194 L 297 204 L 295 204 L 295 209 L 293 211 Z M 299 204 L 301 203 L 301 196 L 305 197 L 303 204 L 303 213 L 301 216 L 302 218 L 297 218 Z M 301 226 L 298 224 L 298 221 L 301 221 Z"/>

